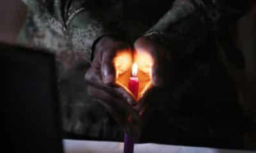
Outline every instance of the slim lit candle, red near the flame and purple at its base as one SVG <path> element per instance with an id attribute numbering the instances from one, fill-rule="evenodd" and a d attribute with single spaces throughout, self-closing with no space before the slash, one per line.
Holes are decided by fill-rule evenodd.
<path id="1" fill-rule="evenodd" d="M 138 64 L 134 63 L 132 65 L 132 77 L 129 78 L 128 89 L 132 92 L 135 99 L 138 98 L 139 90 L 139 78 L 137 77 Z M 125 133 L 124 136 L 124 153 L 133 153 L 134 142 L 131 135 Z"/>

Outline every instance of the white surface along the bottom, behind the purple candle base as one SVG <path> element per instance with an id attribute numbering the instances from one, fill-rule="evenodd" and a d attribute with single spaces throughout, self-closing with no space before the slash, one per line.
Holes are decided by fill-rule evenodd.
<path id="1" fill-rule="evenodd" d="M 82 140 L 63 140 L 65 153 L 123 153 L 124 143 L 96 142 Z M 250 153 L 254 151 L 211 149 L 203 147 L 183 147 L 176 145 L 158 145 L 155 143 L 137 144 L 134 153 Z"/>

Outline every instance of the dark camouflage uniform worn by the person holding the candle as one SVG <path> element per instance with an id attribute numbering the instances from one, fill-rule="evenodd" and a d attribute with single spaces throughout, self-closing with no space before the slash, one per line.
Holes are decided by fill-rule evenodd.
<path id="1" fill-rule="evenodd" d="M 29 7 L 22 32 L 25 43 L 56 54 L 66 133 L 122 140 L 122 129 L 97 101 L 86 95 L 83 76 L 90 66 L 91 46 L 103 34 L 122 34 L 134 41 L 147 31 L 154 31 L 164 45 L 172 47 L 177 84 L 170 92 L 161 93 L 168 95 L 168 101 L 154 103 L 148 110 L 152 122 L 147 123 L 141 142 L 241 145 L 235 138 L 224 143 L 230 135 L 241 138 L 241 127 L 235 125 L 243 117 L 234 97 L 234 82 L 216 52 L 216 40 L 223 38 L 220 31 L 226 31 L 225 27 L 244 13 L 244 8 L 237 7 L 239 4 L 221 0 L 22 1 Z M 159 20 L 164 14 L 165 18 Z M 224 46 L 234 49 L 229 42 Z M 232 56 L 228 60 L 239 61 L 236 66 L 243 67 L 239 58 Z M 227 109 L 230 114 L 225 114 Z M 159 118 L 167 121 L 159 122 Z M 163 135 L 168 138 L 162 138 Z"/>

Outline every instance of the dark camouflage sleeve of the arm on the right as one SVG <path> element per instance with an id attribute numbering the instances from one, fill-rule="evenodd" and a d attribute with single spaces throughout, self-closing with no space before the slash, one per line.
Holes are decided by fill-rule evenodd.
<path id="1" fill-rule="evenodd" d="M 209 33 L 218 31 L 220 25 L 232 24 L 244 15 L 246 3 L 241 2 L 240 6 L 233 1 L 175 0 L 172 8 L 145 35 L 157 35 L 167 47 L 179 45 L 182 52 L 173 51 L 173 54 L 183 58 L 202 45 Z"/>

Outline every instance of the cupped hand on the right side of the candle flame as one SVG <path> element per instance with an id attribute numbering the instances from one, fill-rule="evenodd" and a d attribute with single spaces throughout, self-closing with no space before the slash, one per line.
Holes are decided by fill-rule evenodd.
<path id="1" fill-rule="evenodd" d="M 167 47 L 159 41 L 141 37 L 134 43 L 134 61 L 137 62 L 140 80 L 140 90 L 134 110 L 143 118 L 143 112 L 148 107 L 148 97 L 156 89 L 168 87 L 172 80 L 170 62 L 172 55 Z"/>

